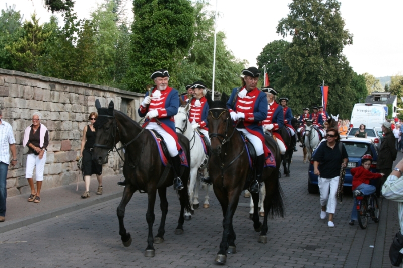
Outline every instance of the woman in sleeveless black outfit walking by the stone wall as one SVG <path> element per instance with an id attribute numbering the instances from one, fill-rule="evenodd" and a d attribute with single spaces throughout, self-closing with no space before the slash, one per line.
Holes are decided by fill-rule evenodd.
<path id="1" fill-rule="evenodd" d="M 92 112 L 88 119 L 91 124 L 84 127 L 83 130 L 83 139 L 81 141 L 81 152 L 80 157 L 83 157 L 83 175 L 85 181 L 85 192 L 81 196 L 82 198 L 90 197 L 90 181 L 91 175 L 96 174 L 98 180 L 98 190 L 97 195 L 102 194 L 102 165 L 97 164 L 92 160 L 92 153 L 94 150 L 94 142 L 95 142 L 95 128 L 94 123 L 97 120 L 98 114 L 96 112 Z"/>

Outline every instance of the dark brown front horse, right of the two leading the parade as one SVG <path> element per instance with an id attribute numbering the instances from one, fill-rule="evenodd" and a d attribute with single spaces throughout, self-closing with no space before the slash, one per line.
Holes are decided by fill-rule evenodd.
<path id="1" fill-rule="evenodd" d="M 252 170 L 249 167 L 248 155 L 241 134 L 233 126 L 230 113 L 226 107 L 228 96 L 222 95 L 220 101 L 212 101 L 206 96 L 210 106 L 207 117 L 209 123 L 209 136 L 211 139 L 211 155 L 209 159 L 209 174 L 213 182 L 214 193 L 223 210 L 223 237 L 220 250 L 215 261 L 225 263 L 227 253 L 236 253 L 235 232 L 232 218 L 238 205 L 242 190 L 249 187 Z M 282 190 L 279 183 L 278 172 L 281 165 L 280 152 L 272 137 L 266 135 L 266 144 L 276 158 L 276 168 L 264 168 L 262 181 L 265 183 L 266 198 L 264 200 L 263 224 L 259 221 L 258 206 L 254 206 L 253 227 L 260 232 L 258 242 L 267 243 L 267 216 L 271 214 L 284 215 Z M 254 204 L 259 203 L 259 195 L 252 194 Z"/>

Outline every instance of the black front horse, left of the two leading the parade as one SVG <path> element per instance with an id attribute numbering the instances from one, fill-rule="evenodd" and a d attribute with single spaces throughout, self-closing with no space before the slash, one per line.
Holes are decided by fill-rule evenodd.
<path id="1" fill-rule="evenodd" d="M 97 100 L 98 101 L 98 100 Z M 94 124 L 96 128 L 94 153 L 92 159 L 99 164 L 107 160 L 108 153 L 119 141 L 123 144 L 125 150 L 123 175 L 126 178 L 126 186 L 123 191 L 123 197 L 117 207 L 117 217 L 119 218 L 119 234 L 123 245 L 128 247 L 131 244 L 130 234 L 126 232 L 123 224 L 124 211 L 131 196 L 139 190 L 147 193 L 148 209 L 146 219 L 149 227 L 146 257 L 154 257 L 155 249 L 153 243 L 159 244 L 164 241 L 165 219 L 168 212 L 167 187 L 172 185 L 173 171 L 167 170 L 165 181 L 163 177 L 165 166 L 162 164 L 155 142 L 149 130 L 143 129 L 136 121 L 133 121 L 127 115 L 114 110 L 113 102 L 109 103 L 109 108 L 100 108 L 99 102 L 96 102 L 98 109 L 98 119 Z M 189 140 L 183 135 L 178 134 L 179 143 L 185 151 L 188 164 L 190 166 Z M 115 147 L 116 148 L 116 147 Z M 184 210 L 190 210 L 190 200 L 187 189 L 187 181 L 190 169 L 185 168 L 181 176 L 184 188 L 179 191 L 180 215 L 179 223 L 175 234 L 183 233 Z M 153 237 L 153 224 L 155 220 L 154 205 L 158 195 L 161 200 L 161 223 L 158 233 Z"/>

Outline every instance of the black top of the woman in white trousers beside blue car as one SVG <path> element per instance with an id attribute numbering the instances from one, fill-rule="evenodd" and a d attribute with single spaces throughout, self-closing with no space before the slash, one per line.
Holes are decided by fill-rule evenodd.
<path id="1" fill-rule="evenodd" d="M 312 160 L 319 162 L 319 172 L 321 178 L 333 178 L 340 175 L 340 168 L 344 158 L 349 158 L 346 148 L 342 146 L 342 153 L 339 150 L 339 143 L 334 148 L 327 146 L 327 142 L 323 142 L 315 150 Z"/>

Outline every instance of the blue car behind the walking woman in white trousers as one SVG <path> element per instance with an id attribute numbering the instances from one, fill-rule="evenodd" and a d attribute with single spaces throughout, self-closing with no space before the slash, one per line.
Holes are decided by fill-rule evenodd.
<path id="1" fill-rule="evenodd" d="M 353 182 L 353 176 L 350 173 L 350 170 L 354 167 L 358 167 L 361 165 L 361 157 L 364 154 L 370 154 L 373 158 L 373 162 L 371 164 L 371 172 L 378 172 L 376 169 L 376 162 L 378 159 L 378 149 L 375 146 L 375 143 L 371 139 L 365 138 L 356 138 L 356 137 L 346 137 L 340 140 L 343 142 L 344 147 L 346 148 L 347 154 L 349 156 L 349 161 L 346 167 L 346 175 L 344 177 L 344 186 L 351 187 Z M 321 143 L 326 142 L 325 140 L 321 141 Z M 313 155 L 315 155 L 313 152 Z M 371 184 L 376 185 L 375 180 L 371 180 Z M 308 169 L 308 192 L 310 194 L 318 193 L 318 176 L 313 173 L 313 161 L 310 159 L 309 169 Z"/>

